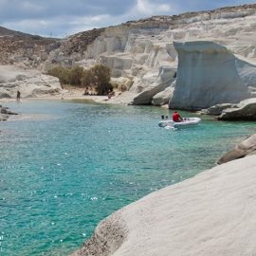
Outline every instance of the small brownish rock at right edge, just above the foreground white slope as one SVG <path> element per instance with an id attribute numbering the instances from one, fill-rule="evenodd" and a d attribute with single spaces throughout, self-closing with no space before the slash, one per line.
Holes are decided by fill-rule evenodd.
<path id="1" fill-rule="evenodd" d="M 240 144 L 236 145 L 235 148 L 218 160 L 218 164 L 223 164 L 234 159 L 242 158 L 247 155 L 256 155 L 256 134 L 248 137 Z"/>

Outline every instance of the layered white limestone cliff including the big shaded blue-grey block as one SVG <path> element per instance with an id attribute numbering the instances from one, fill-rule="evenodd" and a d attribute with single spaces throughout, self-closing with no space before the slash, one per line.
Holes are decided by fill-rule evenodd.
<path id="1" fill-rule="evenodd" d="M 54 47 L 55 50 L 51 50 L 47 57 L 47 52 L 42 52 L 42 70 L 55 64 L 65 67 L 79 64 L 86 68 L 97 63 L 106 64 L 111 68 L 115 79 L 128 80 L 133 84 L 128 87 L 131 87 L 133 94 L 137 94 L 134 103 L 144 104 L 154 101 L 155 95 L 167 87 L 166 82 L 158 78 L 159 70 L 166 66 L 177 69 L 179 59 L 182 62 L 179 64 L 181 71 L 178 72 L 171 107 L 210 107 L 212 104 L 236 103 L 256 96 L 256 5 L 184 13 L 179 16 L 155 16 L 107 27 L 97 33 L 98 37 L 94 37 L 93 30 L 89 34 L 96 39 L 90 41 L 74 35 L 71 37 L 77 41 L 67 40 L 71 44 L 67 51 L 60 42 L 62 46 L 57 49 L 57 46 Z M 194 44 L 194 52 L 189 53 L 186 49 L 188 45 L 181 49 L 181 45 L 177 46 L 174 42 L 191 42 L 187 44 Z M 211 42 L 205 45 L 209 47 L 208 50 L 203 52 L 200 49 L 198 56 L 201 56 L 201 60 L 197 56 L 196 42 Z M 218 56 L 210 54 L 211 50 L 218 52 Z M 26 54 L 33 59 L 29 49 Z M 194 58 L 200 62 L 186 64 Z M 232 62 L 222 68 L 219 64 L 228 61 L 228 58 L 233 58 Z M 19 54 L 13 57 L 14 63 L 23 61 Z M 206 66 L 211 63 L 215 64 L 212 72 L 209 67 L 208 72 L 204 73 Z M 197 76 L 199 73 L 200 78 Z M 171 81 L 173 74 L 169 75 Z M 184 91 L 181 82 L 185 82 Z"/>

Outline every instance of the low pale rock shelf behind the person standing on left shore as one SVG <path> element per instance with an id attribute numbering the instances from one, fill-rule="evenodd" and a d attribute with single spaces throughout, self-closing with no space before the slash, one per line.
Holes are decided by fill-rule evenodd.
<path id="1" fill-rule="evenodd" d="M 59 79 L 38 70 L 0 65 L 0 73 L 0 98 L 15 98 L 18 90 L 22 98 L 56 94 L 62 90 Z"/>

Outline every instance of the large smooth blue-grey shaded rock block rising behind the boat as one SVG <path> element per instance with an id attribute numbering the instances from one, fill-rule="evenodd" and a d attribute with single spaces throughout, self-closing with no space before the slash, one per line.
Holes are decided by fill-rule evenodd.
<path id="1" fill-rule="evenodd" d="M 256 65 L 235 57 L 227 47 L 200 41 L 174 46 L 179 61 L 170 108 L 236 103 L 250 97 L 250 87 L 256 88 Z"/>

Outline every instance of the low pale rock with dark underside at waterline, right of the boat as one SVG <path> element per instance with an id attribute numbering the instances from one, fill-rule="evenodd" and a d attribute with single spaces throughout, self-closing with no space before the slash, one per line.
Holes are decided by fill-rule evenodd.
<path id="1" fill-rule="evenodd" d="M 225 108 L 218 117 L 219 120 L 256 120 L 256 98 L 241 101 Z"/>

